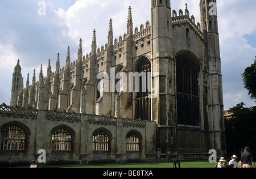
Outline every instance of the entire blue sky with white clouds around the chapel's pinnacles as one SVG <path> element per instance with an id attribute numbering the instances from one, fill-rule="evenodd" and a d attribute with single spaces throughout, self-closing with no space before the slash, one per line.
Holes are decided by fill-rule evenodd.
<path id="1" fill-rule="evenodd" d="M 46 3 L 46 15 L 38 14 L 39 3 Z M 172 0 L 172 10 L 185 9 L 200 22 L 200 0 Z M 57 53 L 65 65 L 67 47 L 71 60 L 77 59 L 79 39 L 84 54 L 89 53 L 93 29 L 97 45 L 105 45 L 109 19 L 113 19 L 114 38 L 126 32 L 128 7 L 132 7 L 134 28 L 150 21 L 150 0 L 1 0 L 0 2 L 0 103 L 10 104 L 11 81 L 17 59 L 20 59 L 24 83 L 27 74 L 40 64 L 44 75 L 48 59 L 55 71 Z M 256 56 L 256 1 L 217 1 L 218 28 L 222 61 L 224 108 L 238 103 L 255 105 L 243 88 L 241 74 Z M 5 76 L 5 77 L 3 77 Z"/>

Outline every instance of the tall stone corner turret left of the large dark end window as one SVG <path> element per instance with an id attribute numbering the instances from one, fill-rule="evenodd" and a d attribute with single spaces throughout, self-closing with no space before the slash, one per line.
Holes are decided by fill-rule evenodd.
<path id="1" fill-rule="evenodd" d="M 151 7 L 151 29 L 152 29 L 152 51 L 151 51 L 151 71 L 153 93 L 156 96 L 152 99 L 152 103 L 157 106 L 158 113 L 152 113 L 152 120 L 156 121 L 159 126 L 158 148 L 162 152 L 168 150 L 174 151 L 174 144 L 170 142 L 171 138 L 175 138 L 175 131 L 171 126 L 175 125 L 174 116 L 170 115 L 170 105 L 175 105 L 174 96 L 171 95 L 166 87 L 172 87 L 173 83 L 170 81 L 170 71 L 173 66 L 170 66 L 173 52 L 172 52 L 172 19 L 170 0 L 152 0 Z M 157 66 L 157 67 L 156 67 Z"/>

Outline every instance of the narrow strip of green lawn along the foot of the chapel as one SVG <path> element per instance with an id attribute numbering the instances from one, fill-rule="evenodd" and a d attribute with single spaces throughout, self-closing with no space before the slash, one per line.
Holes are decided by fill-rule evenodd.
<path id="1" fill-rule="evenodd" d="M 208 161 L 181 162 L 181 168 L 214 168 L 215 163 Z M 88 165 L 74 168 L 173 168 L 174 163 L 122 164 L 122 165 Z"/>

